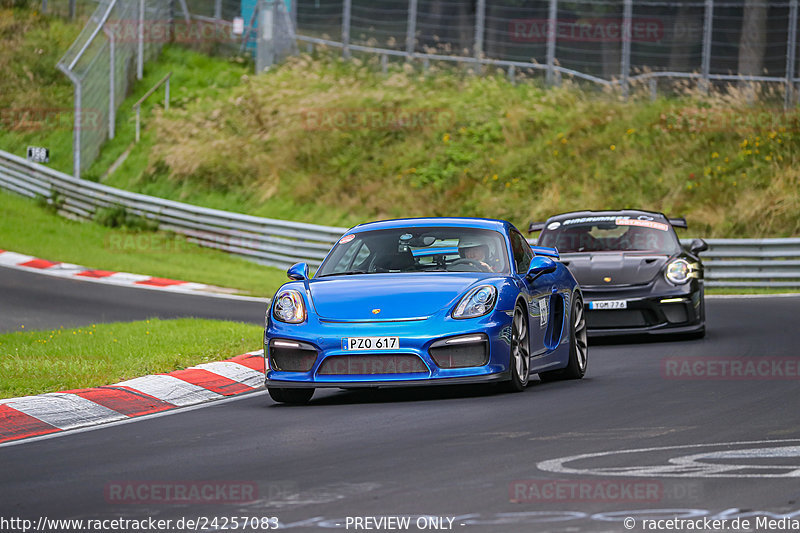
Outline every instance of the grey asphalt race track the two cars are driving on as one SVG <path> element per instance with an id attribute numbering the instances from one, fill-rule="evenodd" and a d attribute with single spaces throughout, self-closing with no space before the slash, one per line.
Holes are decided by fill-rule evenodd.
<path id="1" fill-rule="evenodd" d="M 135 289 L 120 299 L 123 289 L 44 276 L 31 287 L 18 274 L 0 270 L 7 329 L 22 314 L 31 328 L 51 326 L 75 298 L 77 321 L 263 316 L 239 302 Z M 255 393 L 3 446 L 0 516 L 170 519 L 169 531 L 234 530 L 231 517 L 277 517 L 292 531 L 345 530 L 350 517 L 357 531 L 356 518 L 407 516 L 408 531 L 565 533 L 627 531 L 625 517 L 635 531 L 646 517 L 800 518 L 800 297 L 707 304 L 703 340 L 592 346 L 582 381 L 533 380 L 519 394 L 318 391 L 287 407 Z M 598 455 L 574 457 L 584 454 Z M 169 499 L 176 486 L 216 492 L 187 504 Z M 174 525 L 198 518 L 205 528 Z"/>

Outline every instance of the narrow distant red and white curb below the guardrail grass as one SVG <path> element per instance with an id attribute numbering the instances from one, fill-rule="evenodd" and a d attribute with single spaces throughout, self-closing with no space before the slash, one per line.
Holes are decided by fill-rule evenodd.
<path id="1" fill-rule="evenodd" d="M 8 250 L 0 250 L 0 266 L 15 268 L 18 270 L 28 270 L 58 276 L 64 278 L 80 279 L 83 281 L 95 281 L 109 283 L 113 285 L 127 285 L 146 289 L 169 290 L 172 292 L 204 293 L 214 296 L 225 296 L 232 298 L 249 298 L 246 296 L 235 296 L 231 293 L 234 289 L 215 287 L 204 283 L 193 283 L 169 278 L 156 278 L 143 274 L 131 274 L 129 272 L 114 272 L 111 270 L 96 270 L 72 263 L 61 263 L 59 261 L 48 261 L 32 255 L 18 254 Z M 260 298 L 263 300 L 263 298 Z"/>

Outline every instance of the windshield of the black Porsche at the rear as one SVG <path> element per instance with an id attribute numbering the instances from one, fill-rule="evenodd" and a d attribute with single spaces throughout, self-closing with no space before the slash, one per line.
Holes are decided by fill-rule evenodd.
<path id="1" fill-rule="evenodd" d="M 561 253 L 649 252 L 672 255 L 680 251 L 680 243 L 666 220 L 622 216 L 550 222 L 542 230 L 538 244 L 557 248 Z"/>

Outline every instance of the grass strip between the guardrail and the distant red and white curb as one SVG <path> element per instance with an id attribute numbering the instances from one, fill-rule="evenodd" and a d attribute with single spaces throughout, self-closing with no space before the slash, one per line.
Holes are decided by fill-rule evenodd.
<path id="1" fill-rule="evenodd" d="M 113 221 L 113 212 L 109 219 Z M 283 270 L 209 248 L 180 235 L 109 228 L 76 222 L 43 209 L 33 200 L 0 191 L 0 249 L 89 268 L 230 287 L 253 296 L 271 296 L 286 281 Z"/>

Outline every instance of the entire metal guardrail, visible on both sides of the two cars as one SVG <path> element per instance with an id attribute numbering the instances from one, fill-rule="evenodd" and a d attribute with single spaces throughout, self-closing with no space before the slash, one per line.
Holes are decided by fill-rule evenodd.
<path id="1" fill-rule="evenodd" d="M 62 213 L 91 219 L 100 208 L 124 208 L 190 242 L 286 268 L 316 267 L 346 228 L 208 209 L 101 185 L 30 163 L 0 150 L 0 188 L 59 200 Z M 691 239 L 682 240 L 689 244 Z M 706 239 L 701 254 L 709 287 L 800 288 L 800 238 Z"/>

